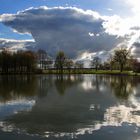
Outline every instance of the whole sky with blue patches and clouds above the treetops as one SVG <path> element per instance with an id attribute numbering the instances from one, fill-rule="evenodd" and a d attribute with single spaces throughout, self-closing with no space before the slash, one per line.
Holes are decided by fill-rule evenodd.
<path id="1" fill-rule="evenodd" d="M 64 50 L 70 57 L 140 52 L 139 0 L 1 0 L 0 47 Z"/>

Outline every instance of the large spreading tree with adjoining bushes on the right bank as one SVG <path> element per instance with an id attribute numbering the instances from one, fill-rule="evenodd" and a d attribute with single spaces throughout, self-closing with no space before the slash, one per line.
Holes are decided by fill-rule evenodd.
<path id="1" fill-rule="evenodd" d="M 131 55 L 131 48 L 119 48 L 114 51 L 113 55 L 103 63 L 103 68 L 107 70 L 120 70 L 120 72 L 133 71 L 140 72 L 140 62 Z"/>

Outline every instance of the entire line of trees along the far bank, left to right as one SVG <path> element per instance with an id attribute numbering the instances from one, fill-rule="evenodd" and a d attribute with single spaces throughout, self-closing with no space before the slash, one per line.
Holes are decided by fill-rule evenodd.
<path id="1" fill-rule="evenodd" d="M 17 51 L 11 53 L 3 50 L 0 53 L 0 73 L 33 73 L 37 69 L 55 69 L 60 73 L 63 70 L 82 70 L 82 61 L 73 61 L 68 58 L 63 51 L 59 51 L 55 60 L 50 58 L 46 51 Z M 126 48 L 116 49 L 112 55 L 102 62 L 101 58 L 93 57 L 89 69 L 94 70 L 120 70 L 120 72 L 134 71 L 140 72 L 140 62 L 131 55 L 131 50 Z"/>

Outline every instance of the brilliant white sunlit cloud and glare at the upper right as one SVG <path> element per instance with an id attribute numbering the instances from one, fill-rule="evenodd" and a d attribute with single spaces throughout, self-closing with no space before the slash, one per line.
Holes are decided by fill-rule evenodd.
<path id="1" fill-rule="evenodd" d="M 138 53 L 136 54 L 139 48 L 133 45 L 140 41 L 140 1 L 119 0 L 118 2 L 126 5 L 129 11 L 131 11 L 132 15 L 127 15 L 126 17 L 121 17 L 121 15 L 106 17 L 103 27 L 106 29 L 106 33 L 110 35 L 124 37 L 125 39 L 123 43 L 125 43 L 129 48 L 134 47 L 134 56 L 140 57 L 138 56 Z"/>

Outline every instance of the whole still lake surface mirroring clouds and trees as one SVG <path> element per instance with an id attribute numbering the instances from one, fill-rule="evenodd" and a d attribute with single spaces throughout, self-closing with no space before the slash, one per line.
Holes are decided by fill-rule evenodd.
<path id="1" fill-rule="evenodd" d="M 140 78 L 0 77 L 0 140 L 140 140 Z"/>

